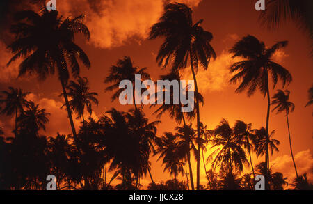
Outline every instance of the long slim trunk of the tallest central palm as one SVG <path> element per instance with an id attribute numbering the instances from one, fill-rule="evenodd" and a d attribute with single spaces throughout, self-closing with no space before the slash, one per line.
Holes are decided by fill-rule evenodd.
<path id="1" fill-rule="evenodd" d="M 199 102 L 198 102 L 198 84 L 197 84 L 197 78 L 195 77 L 195 70 L 193 68 L 193 55 L 192 55 L 192 51 L 190 49 L 190 64 L 191 64 L 191 72 L 193 74 L 193 81 L 195 81 L 195 109 L 197 111 L 197 134 L 198 134 L 198 150 L 197 150 L 197 190 L 199 189 L 200 186 L 200 149 L 201 149 L 201 145 L 200 145 L 200 139 L 201 139 L 201 135 L 200 135 L 200 109 L 199 109 Z"/>

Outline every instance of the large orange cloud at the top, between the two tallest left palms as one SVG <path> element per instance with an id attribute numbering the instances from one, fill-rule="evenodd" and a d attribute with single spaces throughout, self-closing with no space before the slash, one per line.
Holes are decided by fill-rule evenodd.
<path id="1" fill-rule="evenodd" d="M 201 0 L 179 0 L 198 6 Z M 147 38 L 150 27 L 163 13 L 163 0 L 70 0 L 61 1 L 57 9 L 62 15 L 86 15 L 90 42 L 95 47 L 111 48 Z"/>

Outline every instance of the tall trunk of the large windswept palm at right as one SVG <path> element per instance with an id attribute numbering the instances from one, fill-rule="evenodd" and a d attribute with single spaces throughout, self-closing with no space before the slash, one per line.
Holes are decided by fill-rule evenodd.
<path id="1" fill-rule="evenodd" d="M 265 183 L 266 183 L 266 189 L 269 189 L 268 185 L 268 169 L 269 169 L 269 155 L 268 155 L 268 136 L 269 136 L 269 116 L 270 116 L 270 110 L 271 110 L 271 98 L 269 93 L 269 83 L 268 83 L 268 73 L 266 74 L 266 86 L 267 86 L 267 115 L 266 115 L 266 150 L 265 150 L 265 164 L 266 164 L 266 175 L 265 175 Z"/>

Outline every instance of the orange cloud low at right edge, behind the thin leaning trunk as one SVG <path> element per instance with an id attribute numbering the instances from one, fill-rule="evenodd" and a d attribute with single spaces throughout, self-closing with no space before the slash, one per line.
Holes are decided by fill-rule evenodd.
<path id="1" fill-rule="evenodd" d="M 294 160 L 296 162 L 298 175 L 307 173 L 308 180 L 313 182 L 313 158 L 310 149 L 298 152 L 294 155 Z M 294 178 L 296 178 L 294 163 L 292 162 L 291 156 L 282 155 L 280 157 L 276 157 L 271 163 L 273 165 L 273 172 L 278 171 L 284 173 L 284 177 L 287 177 L 287 182 L 289 184 L 294 180 Z"/>

